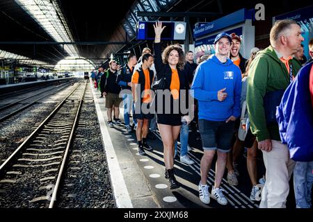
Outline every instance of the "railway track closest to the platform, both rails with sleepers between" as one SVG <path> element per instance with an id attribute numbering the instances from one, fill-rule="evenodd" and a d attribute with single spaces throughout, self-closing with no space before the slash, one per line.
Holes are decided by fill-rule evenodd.
<path id="1" fill-rule="evenodd" d="M 0 166 L 0 207 L 54 207 L 87 83 L 80 84 Z"/>

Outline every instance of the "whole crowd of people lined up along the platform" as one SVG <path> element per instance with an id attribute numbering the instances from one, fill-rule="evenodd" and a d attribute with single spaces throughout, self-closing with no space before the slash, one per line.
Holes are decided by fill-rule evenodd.
<path id="1" fill-rule="evenodd" d="M 138 61 L 129 54 L 124 67 L 118 69 L 111 60 L 109 69 L 100 67 L 98 73 L 93 72 L 93 83 L 106 99 L 109 126 L 121 124 L 122 102 L 125 128 L 128 133 L 136 130 L 139 155 L 153 150 L 147 136 L 159 128 L 164 176 L 170 189 L 177 189 L 177 139 L 180 135 L 180 162 L 194 164 L 187 154 L 191 150 L 189 127 L 196 123 L 203 148 L 198 189 L 205 204 L 214 198 L 227 205 L 220 184 L 225 169 L 227 182 L 239 184 L 239 155 L 246 147 L 251 200 L 261 200 L 260 208 L 286 207 L 294 173 L 296 207 L 312 207 L 313 39 L 309 42 L 311 58 L 304 58 L 300 26 L 285 19 L 271 28 L 270 46 L 251 49 L 248 60 L 239 52 L 241 37 L 219 33 L 214 40 L 215 54 L 195 63 L 193 52 L 185 54 L 179 44 L 162 51 L 164 28 L 161 22 L 154 24 L 154 54 L 145 48 Z M 266 169 L 261 180 L 257 178 L 258 149 Z M 209 193 L 207 176 L 216 154 L 214 186 Z"/>

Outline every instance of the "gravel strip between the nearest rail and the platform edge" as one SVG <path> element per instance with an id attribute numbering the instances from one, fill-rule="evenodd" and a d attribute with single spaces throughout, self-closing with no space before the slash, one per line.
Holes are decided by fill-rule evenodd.
<path id="1" fill-rule="evenodd" d="M 79 127 L 70 151 L 65 184 L 57 207 L 112 208 L 109 171 L 93 96 L 88 84 Z"/>

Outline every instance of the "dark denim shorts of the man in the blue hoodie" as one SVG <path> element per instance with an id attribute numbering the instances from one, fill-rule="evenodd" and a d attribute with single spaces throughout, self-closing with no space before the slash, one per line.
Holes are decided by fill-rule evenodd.
<path id="1" fill-rule="evenodd" d="M 234 135 L 234 121 L 209 121 L 199 119 L 199 131 L 204 151 L 230 151 Z"/>

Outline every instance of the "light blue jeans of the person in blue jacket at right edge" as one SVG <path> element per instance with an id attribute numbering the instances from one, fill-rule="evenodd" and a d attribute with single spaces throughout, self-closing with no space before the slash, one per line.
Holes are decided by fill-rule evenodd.
<path id="1" fill-rule="evenodd" d="M 297 208 L 310 208 L 313 184 L 313 161 L 296 162 L 294 167 L 294 195 Z"/>

